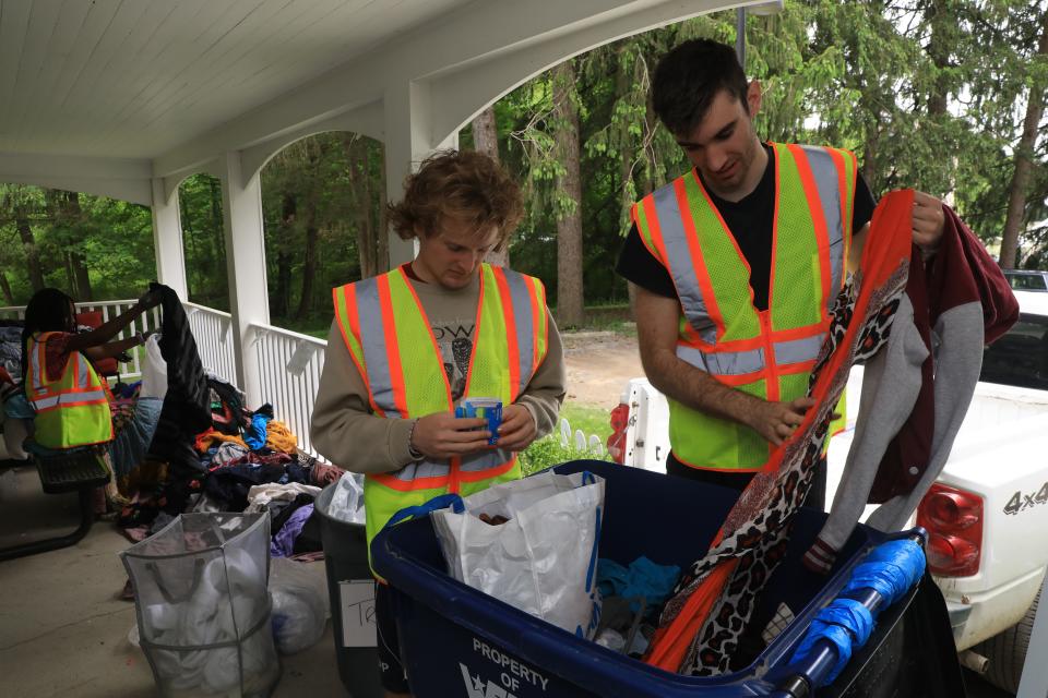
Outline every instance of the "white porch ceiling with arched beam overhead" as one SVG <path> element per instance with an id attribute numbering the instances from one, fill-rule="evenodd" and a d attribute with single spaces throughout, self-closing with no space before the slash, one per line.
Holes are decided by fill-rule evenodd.
<path id="1" fill-rule="evenodd" d="M 0 0 L 0 181 L 148 204 L 354 130 L 409 159 L 565 58 L 782 0 Z M 397 166 L 400 167 L 400 166 Z M 398 180 L 397 180 L 398 181 Z"/>

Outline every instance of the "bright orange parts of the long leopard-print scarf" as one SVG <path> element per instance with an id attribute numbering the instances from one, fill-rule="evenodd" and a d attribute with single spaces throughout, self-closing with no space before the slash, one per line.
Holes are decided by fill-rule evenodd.
<path id="1" fill-rule="evenodd" d="M 913 217 L 914 192 L 902 190 L 888 194 L 873 212 L 870 232 L 867 236 L 866 246 L 862 250 L 860 263 L 861 277 L 859 297 L 855 303 L 853 316 L 866 318 L 874 290 L 885 282 L 903 267 L 910 258 L 910 220 Z M 876 244 L 870 244 L 876 241 Z M 862 330 L 865 322 L 853 322 L 845 333 L 838 347 L 848 347 L 855 341 L 855 335 Z M 833 386 L 836 374 L 843 370 L 848 360 L 848 351 L 835 351 L 830 361 L 820 370 L 815 385 L 811 390 L 812 397 L 821 402 L 825 400 Z M 783 464 L 786 446 L 794 441 L 805 437 L 815 420 L 818 410 L 809 410 L 805 420 L 787 442 L 775 448 L 767 459 L 763 471 L 775 472 Z M 714 547 L 723 538 L 722 528 L 714 539 Z M 724 591 L 724 587 L 738 564 L 738 558 L 722 559 L 707 574 L 683 609 L 668 625 L 656 633 L 651 649 L 644 661 L 648 664 L 677 673 L 680 671 L 684 657 L 695 638 L 695 635 L 705 624 L 713 604 Z"/>

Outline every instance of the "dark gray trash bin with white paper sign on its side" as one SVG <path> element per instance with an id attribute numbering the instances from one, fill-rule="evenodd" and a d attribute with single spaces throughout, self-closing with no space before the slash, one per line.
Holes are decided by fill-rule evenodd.
<path id="1" fill-rule="evenodd" d="M 379 677 L 379 650 L 373 639 L 367 646 L 359 645 L 361 636 L 368 634 L 366 628 L 374 627 L 374 578 L 368 566 L 367 534 L 364 524 L 327 515 L 336 486 L 324 488 L 313 508 L 320 516 L 338 676 L 353 698 L 381 698 L 384 690 Z"/>

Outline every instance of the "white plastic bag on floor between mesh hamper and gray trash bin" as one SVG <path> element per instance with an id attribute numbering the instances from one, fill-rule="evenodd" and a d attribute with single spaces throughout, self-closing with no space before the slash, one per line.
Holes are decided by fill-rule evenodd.
<path id="1" fill-rule="evenodd" d="M 331 615 L 323 567 L 274 557 L 270 561 L 273 639 L 281 654 L 312 647 L 324 634 Z"/>

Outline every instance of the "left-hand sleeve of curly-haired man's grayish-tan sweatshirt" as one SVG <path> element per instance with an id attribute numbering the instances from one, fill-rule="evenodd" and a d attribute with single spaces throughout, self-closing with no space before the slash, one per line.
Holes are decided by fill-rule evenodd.
<path id="1" fill-rule="evenodd" d="M 400 470 L 413 461 L 407 441 L 414 422 L 372 413 L 368 388 L 333 322 L 309 430 L 317 450 L 352 472 Z"/>

